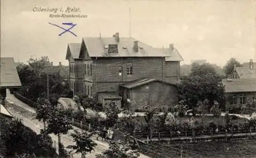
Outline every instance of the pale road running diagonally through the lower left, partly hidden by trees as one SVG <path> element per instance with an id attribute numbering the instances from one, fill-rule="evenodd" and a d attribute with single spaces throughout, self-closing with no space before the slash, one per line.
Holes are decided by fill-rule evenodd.
<path id="1" fill-rule="evenodd" d="M 14 95 L 10 94 L 10 91 L 7 90 L 7 101 L 9 103 L 12 103 L 19 107 L 19 109 L 14 109 L 15 107 L 9 107 L 8 110 L 11 112 L 11 114 L 17 118 L 23 119 L 24 125 L 34 130 L 36 133 L 40 132 L 40 129 L 44 128 L 44 125 L 42 122 L 39 122 L 35 119 L 33 119 L 33 115 L 35 114 L 35 110 L 30 107 L 29 105 L 25 104 L 24 102 L 18 100 Z M 73 145 L 73 138 L 70 136 L 74 130 L 82 131 L 80 128 L 77 128 L 73 126 L 73 130 L 70 130 L 68 134 L 61 136 L 61 143 L 64 147 L 67 147 L 69 145 Z M 58 151 L 58 138 L 54 134 L 50 134 L 53 142 L 56 142 L 56 150 Z M 94 158 L 96 157 L 96 154 L 100 154 L 106 149 L 109 148 L 109 144 L 107 142 L 98 141 L 96 138 L 92 139 L 95 143 L 97 143 L 97 146 L 95 147 L 95 151 L 92 151 L 92 153 L 89 153 L 86 155 L 87 158 Z M 74 154 L 74 158 L 80 158 L 80 154 Z M 139 158 L 151 158 L 149 156 L 140 154 Z"/>

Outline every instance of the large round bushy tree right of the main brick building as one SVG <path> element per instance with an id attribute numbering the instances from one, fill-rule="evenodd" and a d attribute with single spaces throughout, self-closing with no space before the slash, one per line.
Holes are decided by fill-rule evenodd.
<path id="1" fill-rule="evenodd" d="M 194 114 L 199 101 L 207 99 L 211 107 L 215 100 L 223 102 L 224 99 L 222 79 L 215 71 L 208 69 L 208 66 L 207 64 L 205 69 L 201 67 L 199 70 L 194 66 L 195 70 L 178 85 L 180 100 L 184 100 Z"/>

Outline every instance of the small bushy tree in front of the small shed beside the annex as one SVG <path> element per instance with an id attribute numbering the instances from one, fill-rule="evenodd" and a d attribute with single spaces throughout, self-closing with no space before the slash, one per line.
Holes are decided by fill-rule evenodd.
<path id="1" fill-rule="evenodd" d="M 118 114 L 121 112 L 121 109 L 113 101 L 106 103 L 103 108 L 106 114 L 106 126 L 113 127 L 118 121 Z"/>

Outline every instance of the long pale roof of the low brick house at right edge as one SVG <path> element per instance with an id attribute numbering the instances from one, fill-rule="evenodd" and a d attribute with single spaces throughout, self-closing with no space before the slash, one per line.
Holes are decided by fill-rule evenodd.
<path id="1" fill-rule="evenodd" d="M 226 93 L 256 92 L 256 79 L 223 79 Z"/>

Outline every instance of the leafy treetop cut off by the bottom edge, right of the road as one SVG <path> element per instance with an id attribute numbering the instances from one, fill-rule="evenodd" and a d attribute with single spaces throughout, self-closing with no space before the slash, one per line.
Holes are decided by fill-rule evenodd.
<path id="1" fill-rule="evenodd" d="M 97 158 L 137 158 L 140 154 L 137 150 L 131 150 L 131 146 L 122 141 L 111 142 L 108 150 L 96 155 Z"/>

